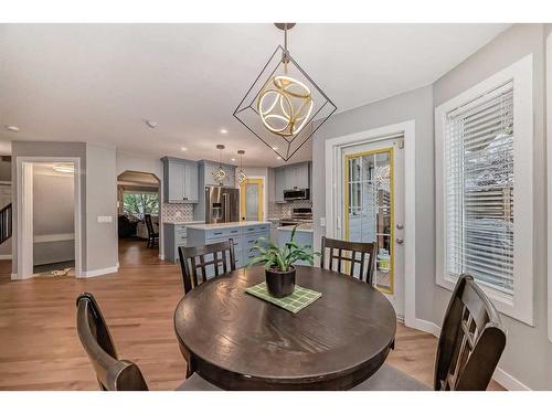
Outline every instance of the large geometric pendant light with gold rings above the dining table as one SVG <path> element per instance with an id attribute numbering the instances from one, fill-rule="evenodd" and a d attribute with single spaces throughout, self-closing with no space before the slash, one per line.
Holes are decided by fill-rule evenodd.
<path id="1" fill-rule="evenodd" d="M 284 47 L 276 47 L 234 117 L 287 161 L 337 106 L 291 57 L 287 32 L 295 23 L 275 25 L 284 31 Z M 315 119 L 316 127 L 312 125 Z"/>

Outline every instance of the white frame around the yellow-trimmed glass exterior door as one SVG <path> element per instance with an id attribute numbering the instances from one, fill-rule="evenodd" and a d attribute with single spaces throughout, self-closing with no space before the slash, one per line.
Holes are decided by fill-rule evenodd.
<path id="1" fill-rule="evenodd" d="M 335 237 L 341 217 L 338 214 L 338 182 L 342 171 L 338 158 L 341 149 L 359 144 L 378 141 L 394 135 L 404 136 L 404 323 L 416 323 L 416 148 L 415 120 L 386 125 L 362 132 L 350 134 L 326 140 L 326 182 L 331 187 L 326 191 L 326 235 Z M 407 275 L 407 277 L 406 277 Z"/>

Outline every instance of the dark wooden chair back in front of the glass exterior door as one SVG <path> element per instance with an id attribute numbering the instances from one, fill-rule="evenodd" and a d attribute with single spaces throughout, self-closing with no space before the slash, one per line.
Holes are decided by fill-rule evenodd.
<path id="1" fill-rule="evenodd" d="M 344 273 L 348 266 L 350 276 L 357 274 L 360 280 L 372 285 L 375 272 L 375 243 L 346 242 L 322 236 L 320 267 Z"/>

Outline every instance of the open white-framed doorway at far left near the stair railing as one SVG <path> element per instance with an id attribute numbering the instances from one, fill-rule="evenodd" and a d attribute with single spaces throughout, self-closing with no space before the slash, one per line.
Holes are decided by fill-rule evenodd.
<path id="1" fill-rule="evenodd" d="M 18 158 L 13 279 L 81 276 L 79 166 L 78 158 Z"/>

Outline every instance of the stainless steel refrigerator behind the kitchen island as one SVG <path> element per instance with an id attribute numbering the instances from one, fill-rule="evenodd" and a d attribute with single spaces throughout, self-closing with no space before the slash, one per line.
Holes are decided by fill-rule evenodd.
<path id="1" fill-rule="evenodd" d="M 240 190 L 205 187 L 205 223 L 240 221 Z"/>

